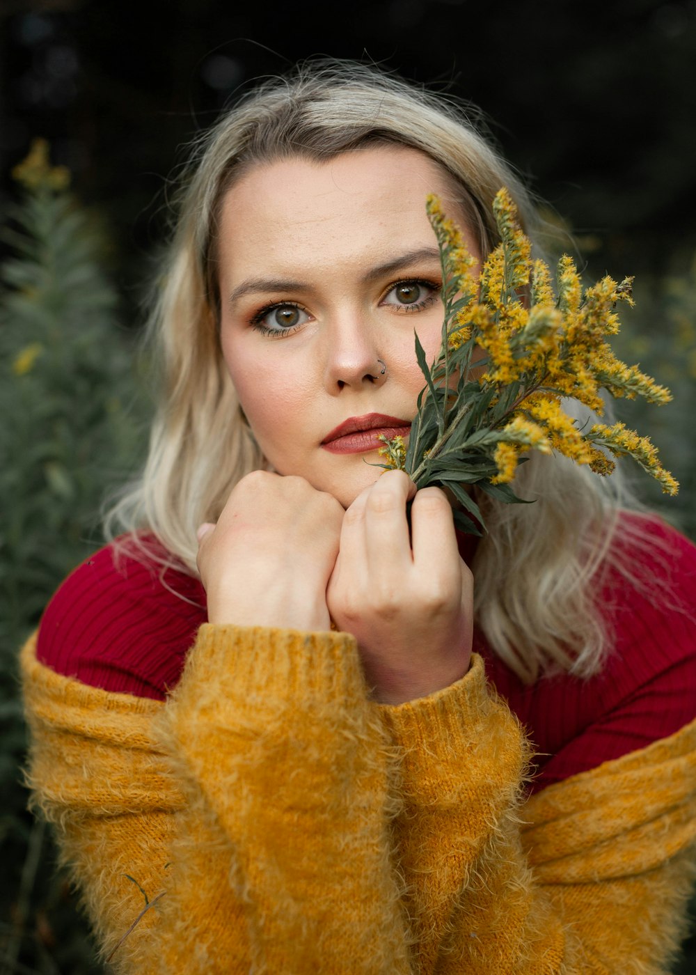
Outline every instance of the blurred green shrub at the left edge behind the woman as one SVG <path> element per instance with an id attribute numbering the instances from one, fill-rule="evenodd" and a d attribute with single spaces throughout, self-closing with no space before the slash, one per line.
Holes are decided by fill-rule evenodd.
<path id="1" fill-rule="evenodd" d="M 25 813 L 19 644 L 59 581 L 97 547 L 104 489 L 139 460 L 133 350 L 116 321 L 90 216 L 34 144 L 16 170 L 0 268 L 0 971 L 95 972 L 54 850 Z"/>

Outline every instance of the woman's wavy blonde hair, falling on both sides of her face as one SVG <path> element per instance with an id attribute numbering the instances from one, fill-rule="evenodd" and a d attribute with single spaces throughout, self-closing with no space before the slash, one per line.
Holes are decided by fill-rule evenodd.
<path id="1" fill-rule="evenodd" d="M 533 233 L 529 196 L 481 135 L 473 109 L 335 61 L 300 65 L 253 89 L 194 147 L 148 329 L 160 406 L 142 475 L 107 517 L 111 537 L 147 529 L 195 573 L 197 526 L 214 521 L 232 487 L 264 466 L 219 349 L 215 249 L 224 194 L 260 162 L 325 160 L 379 143 L 418 149 L 443 167 L 483 254 L 497 243 L 491 204 L 501 186 Z M 530 459 L 518 489 L 536 504 L 485 499 L 488 532 L 474 565 L 478 619 L 522 680 L 554 666 L 589 675 L 609 643 L 595 603 L 617 496 L 559 457 Z"/>

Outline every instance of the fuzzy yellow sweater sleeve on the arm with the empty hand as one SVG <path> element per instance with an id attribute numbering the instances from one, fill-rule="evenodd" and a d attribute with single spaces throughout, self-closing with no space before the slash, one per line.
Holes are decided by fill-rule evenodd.
<path id="1" fill-rule="evenodd" d="M 33 642 L 22 668 L 33 802 L 117 971 L 410 970 L 352 638 L 205 625 L 167 705 L 59 676 Z"/>

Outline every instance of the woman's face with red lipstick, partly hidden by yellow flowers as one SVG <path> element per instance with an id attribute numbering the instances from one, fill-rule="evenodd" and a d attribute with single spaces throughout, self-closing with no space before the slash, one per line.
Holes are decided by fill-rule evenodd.
<path id="1" fill-rule="evenodd" d="M 443 308 L 428 193 L 477 245 L 448 181 L 415 149 L 259 165 L 226 195 L 222 354 L 259 448 L 347 507 L 373 483 L 377 435 L 407 434 Z M 367 461 L 367 463 L 366 463 Z"/>

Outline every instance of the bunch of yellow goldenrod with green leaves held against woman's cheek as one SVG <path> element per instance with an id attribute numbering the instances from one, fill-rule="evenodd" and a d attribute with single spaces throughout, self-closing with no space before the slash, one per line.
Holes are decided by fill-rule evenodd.
<path id="1" fill-rule="evenodd" d="M 617 359 L 607 341 L 619 331 L 617 303 L 633 305 L 633 279 L 617 284 L 604 277 L 583 290 L 573 260 L 563 255 L 555 289 L 548 264 L 532 260 L 504 188 L 493 202 L 501 243 L 475 275 L 476 260 L 438 198 L 428 197 L 427 208 L 443 265 L 443 341 L 428 366 L 416 335 L 426 385 L 408 447 L 401 437 L 385 441 L 381 466 L 406 470 L 417 487 L 450 490 L 462 508 L 457 526 L 476 534 L 483 517 L 467 486 L 522 501 L 510 482 L 529 450 L 558 450 L 599 475 L 613 471 L 612 456 L 628 455 L 676 494 L 677 481 L 647 437 L 623 423 L 582 429 L 562 408 L 564 398 L 573 398 L 601 415 L 602 389 L 650 403 L 672 399 L 637 366 Z"/>

